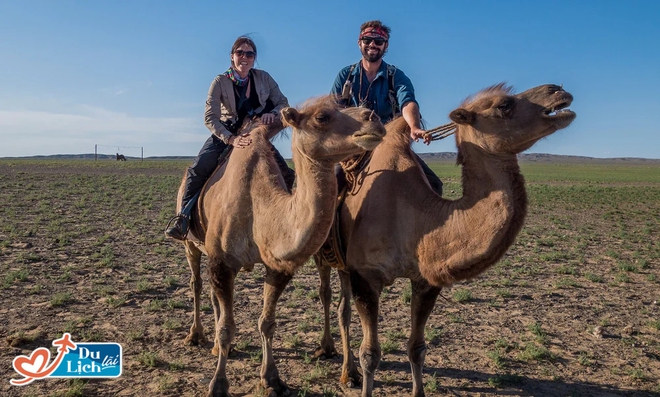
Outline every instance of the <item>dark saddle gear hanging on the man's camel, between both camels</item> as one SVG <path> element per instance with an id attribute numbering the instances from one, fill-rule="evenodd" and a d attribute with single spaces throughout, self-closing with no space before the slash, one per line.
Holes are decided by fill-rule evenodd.
<path id="1" fill-rule="evenodd" d="M 361 181 L 358 179 L 362 171 L 367 167 L 372 156 L 371 151 L 356 155 L 348 160 L 339 163 L 344 171 L 345 183 L 338 181 L 339 192 L 337 197 L 337 207 L 335 208 L 335 221 L 330 228 L 330 234 L 325 240 L 315 258 L 335 269 L 346 269 L 346 246 L 341 240 L 340 234 L 340 211 L 344 204 L 346 195 L 356 189 Z"/>

